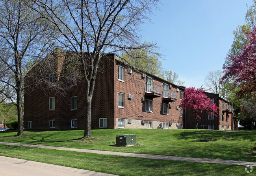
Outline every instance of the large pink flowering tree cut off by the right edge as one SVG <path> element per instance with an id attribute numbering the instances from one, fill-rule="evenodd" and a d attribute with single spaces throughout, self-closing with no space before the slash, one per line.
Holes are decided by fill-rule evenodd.
<path id="1" fill-rule="evenodd" d="M 252 93 L 256 97 L 256 27 L 247 33 L 249 44 L 243 46 L 242 52 L 229 57 L 229 66 L 224 66 L 224 80 L 235 79 L 234 86 L 241 87 L 239 95 Z"/>

